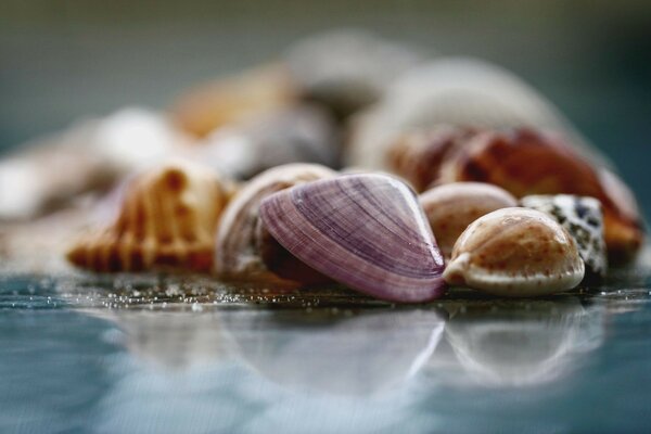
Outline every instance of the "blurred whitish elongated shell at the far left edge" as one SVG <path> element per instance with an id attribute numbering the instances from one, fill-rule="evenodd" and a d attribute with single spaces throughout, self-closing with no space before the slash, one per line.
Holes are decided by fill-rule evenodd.
<path id="1" fill-rule="evenodd" d="M 127 107 L 26 143 L 0 162 L 0 220 L 33 219 L 104 192 L 184 141 L 158 113 Z"/>

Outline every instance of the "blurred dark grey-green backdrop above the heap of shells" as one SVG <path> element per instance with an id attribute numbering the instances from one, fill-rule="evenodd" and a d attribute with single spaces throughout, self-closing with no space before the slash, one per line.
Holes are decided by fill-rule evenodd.
<path id="1" fill-rule="evenodd" d="M 125 105 L 164 108 L 196 81 L 341 27 L 513 71 L 615 162 L 651 209 L 646 0 L 2 0 L 0 149 Z"/>

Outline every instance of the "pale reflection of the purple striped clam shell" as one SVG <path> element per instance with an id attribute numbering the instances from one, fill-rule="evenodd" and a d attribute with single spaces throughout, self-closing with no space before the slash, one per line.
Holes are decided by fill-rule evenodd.
<path id="1" fill-rule="evenodd" d="M 242 358 L 264 376 L 292 392 L 344 396 L 403 386 L 434 353 L 445 324 L 444 315 L 431 309 L 362 310 L 352 318 L 330 310 L 275 310 L 225 318 Z"/>

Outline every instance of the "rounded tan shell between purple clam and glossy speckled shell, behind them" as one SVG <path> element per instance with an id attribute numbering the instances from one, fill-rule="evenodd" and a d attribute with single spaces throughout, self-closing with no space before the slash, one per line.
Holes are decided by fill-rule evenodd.
<path id="1" fill-rule="evenodd" d="M 499 187 L 481 182 L 455 182 L 435 187 L 419 196 L 436 243 L 446 259 L 457 239 L 477 218 L 518 201 Z"/>

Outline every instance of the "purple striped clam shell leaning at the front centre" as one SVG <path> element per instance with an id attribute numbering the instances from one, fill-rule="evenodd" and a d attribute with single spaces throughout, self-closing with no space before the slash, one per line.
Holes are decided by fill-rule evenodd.
<path id="1" fill-rule="evenodd" d="M 281 191 L 260 204 L 263 225 L 323 275 L 395 302 L 444 292 L 443 256 L 413 192 L 385 175 L 347 175 Z"/>

